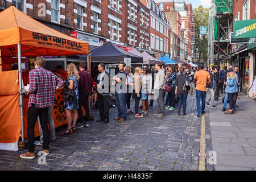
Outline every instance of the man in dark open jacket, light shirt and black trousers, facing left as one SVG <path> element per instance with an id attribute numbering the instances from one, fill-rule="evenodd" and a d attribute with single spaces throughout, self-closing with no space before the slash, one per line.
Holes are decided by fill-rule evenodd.
<path id="1" fill-rule="evenodd" d="M 98 92 L 98 102 L 100 105 L 100 119 L 96 122 L 109 123 L 109 93 L 110 93 L 110 75 L 105 71 L 103 63 L 98 64 L 98 74 L 96 86 Z"/>

